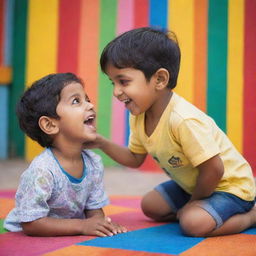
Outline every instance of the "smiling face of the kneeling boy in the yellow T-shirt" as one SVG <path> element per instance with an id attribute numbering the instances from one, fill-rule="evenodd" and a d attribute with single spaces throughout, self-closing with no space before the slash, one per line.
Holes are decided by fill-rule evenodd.
<path id="1" fill-rule="evenodd" d="M 151 109 L 157 99 L 155 79 L 147 81 L 142 71 L 134 68 L 118 69 L 109 64 L 106 69 L 112 81 L 114 96 L 133 114 L 139 115 Z"/>

